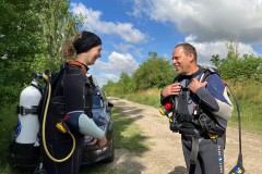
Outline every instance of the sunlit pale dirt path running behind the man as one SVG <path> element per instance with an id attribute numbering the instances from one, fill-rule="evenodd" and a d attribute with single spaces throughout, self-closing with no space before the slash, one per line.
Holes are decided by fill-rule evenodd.
<path id="1" fill-rule="evenodd" d="M 110 100 L 120 108 L 126 116 L 140 125 L 148 137 L 150 150 L 142 153 L 130 153 L 127 150 L 116 150 L 116 159 L 110 167 L 138 174 L 184 174 L 186 164 L 182 157 L 180 136 L 169 130 L 168 120 L 160 116 L 157 109 L 130 102 L 127 100 Z M 157 116 L 158 115 L 158 116 Z M 225 150 L 225 173 L 237 163 L 239 145 L 238 130 L 228 128 Z M 247 174 L 261 173 L 262 137 L 242 133 L 243 166 Z"/>

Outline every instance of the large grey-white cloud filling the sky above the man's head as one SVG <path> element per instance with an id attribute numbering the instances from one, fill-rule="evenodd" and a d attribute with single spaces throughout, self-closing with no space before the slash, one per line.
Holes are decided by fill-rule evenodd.
<path id="1" fill-rule="evenodd" d="M 157 22 L 170 22 L 198 41 L 235 38 L 241 42 L 262 42 L 261 0 L 135 0 L 133 14 L 146 14 Z"/>

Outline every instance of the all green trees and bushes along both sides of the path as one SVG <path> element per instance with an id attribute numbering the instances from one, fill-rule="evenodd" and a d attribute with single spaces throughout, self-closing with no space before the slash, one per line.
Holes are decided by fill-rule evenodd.
<path id="1" fill-rule="evenodd" d="M 0 104 L 17 101 L 34 72 L 59 69 L 64 59 L 62 44 L 79 30 L 84 16 L 69 11 L 69 0 L 0 0 Z M 261 57 L 239 54 L 229 45 L 226 58 L 215 54 L 211 62 L 225 79 L 253 79 L 261 83 Z M 176 71 L 170 60 L 148 52 L 148 58 L 129 76 L 109 80 L 103 88 L 109 95 L 163 88 L 172 82 Z M 95 75 L 94 75 L 95 76 Z M 27 84 L 24 84 L 24 83 Z"/>

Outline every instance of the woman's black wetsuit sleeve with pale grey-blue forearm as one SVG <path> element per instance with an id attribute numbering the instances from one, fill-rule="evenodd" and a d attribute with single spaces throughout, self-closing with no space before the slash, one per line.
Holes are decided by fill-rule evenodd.
<path id="1" fill-rule="evenodd" d="M 83 135 L 100 139 L 105 133 L 84 114 L 85 102 L 87 102 L 85 76 L 78 67 L 67 70 L 63 79 L 63 95 L 71 127 Z"/>

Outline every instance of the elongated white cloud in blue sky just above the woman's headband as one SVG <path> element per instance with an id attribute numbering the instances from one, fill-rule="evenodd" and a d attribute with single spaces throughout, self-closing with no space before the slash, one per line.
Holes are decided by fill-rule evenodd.
<path id="1" fill-rule="evenodd" d="M 102 12 L 87 9 L 83 3 L 71 3 L 71 9 L 74 14 L 82 14 L 85 17 L 85 29 L 103 34 L 115 34 L 120 36 L 124 41 L 132 44 L 146 42 L 147 40 L 147 36 L 134 28 L 131 23 L 104 22 L 100 20 Z"/>

